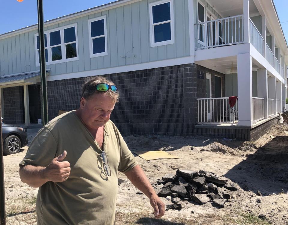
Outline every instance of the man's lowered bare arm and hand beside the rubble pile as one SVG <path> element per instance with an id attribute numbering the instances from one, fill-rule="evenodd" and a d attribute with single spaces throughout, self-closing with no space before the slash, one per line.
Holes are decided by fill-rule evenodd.
<path id="1" fill-rule="evenodd" d="M 154 188 L 150 184 L 142 168 L 137 165 L 124 174 L 136 188 L 142 191 L 150 199 L 150 204 L 154 208 L 155 218 L 161 218 L 165 213 L 165 204 L 155 193 Z"/>

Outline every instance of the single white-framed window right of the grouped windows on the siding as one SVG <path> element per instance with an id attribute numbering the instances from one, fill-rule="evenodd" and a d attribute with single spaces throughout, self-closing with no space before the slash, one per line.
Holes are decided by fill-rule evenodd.
<path id="1" fill-rule="evenodd" d="M 90 58 L 108 55 L 106 16 L 88 20 Z"/>

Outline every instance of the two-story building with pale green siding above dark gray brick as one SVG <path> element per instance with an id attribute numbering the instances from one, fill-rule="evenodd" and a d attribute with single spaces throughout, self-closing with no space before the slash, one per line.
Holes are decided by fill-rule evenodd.
<path id="1" fill-rule="evenodd" d="M 272 0 L 119 0 L 44 27 L 50 120 L 77 109 L 96 75 L 119 89 L 123 134 L 256 140 L 284 110 L 288 49 Z M 37 25 L 0 35 L 7 123 L 41 118 L 39 66 Z"/>

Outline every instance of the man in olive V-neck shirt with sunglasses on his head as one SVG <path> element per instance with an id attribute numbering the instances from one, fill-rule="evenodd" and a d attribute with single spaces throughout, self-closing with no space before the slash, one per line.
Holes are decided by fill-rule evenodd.
<path id="1" fill-rule="evenodd" d="M 150 199 L 156 218 L 165 205 L 109 120 L 119 93 L 97 76 L 82 86 L 80 107 L 46 124 L 19 164 L 21 181 L 40 187 L 37 224 L 115 223 L 117 172 Z"/>

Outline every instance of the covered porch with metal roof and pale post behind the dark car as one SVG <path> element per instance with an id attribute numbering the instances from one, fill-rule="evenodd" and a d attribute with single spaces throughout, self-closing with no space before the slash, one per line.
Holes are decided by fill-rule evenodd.
<path id="1" fill-rule="evenodd" d="M 41 119 L 40 71 L 0 76 L 0 93 L 4 123 L 29 126 Z"/>

